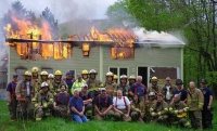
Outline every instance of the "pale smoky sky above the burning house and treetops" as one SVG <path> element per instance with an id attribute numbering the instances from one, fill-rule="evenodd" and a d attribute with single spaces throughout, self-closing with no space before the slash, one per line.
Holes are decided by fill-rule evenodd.
<path id="1" fill-rule="evenodd" d="M 0 17 L 11 9 L 17 0 L 0 0 Z M 62 23 L 74 18 L 106 18 L 108 5 L 117 0 L 20 0 L 25 9 L 31 10 L 37 16 L 48 6 L 55 18 Z"/>

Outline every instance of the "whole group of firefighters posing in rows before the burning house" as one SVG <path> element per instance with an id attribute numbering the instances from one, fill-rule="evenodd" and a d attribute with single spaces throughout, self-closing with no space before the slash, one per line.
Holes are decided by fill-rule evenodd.
<path id="1" fill-rule="evenodd" d="M 213 128 L 213 95 L 206 79 L 201 80 L 200 89 L 191 81 L 184 90 L 181 79 L 174 86 L 169 77 L 164 87 L 152 77 L 152 86 L 146 88 L 141 76 L 122 75 L 118 83 L 117 76 L 111 71 L 105 75 L 105 82 L 98 80 L 97 75 L 91 69 L 82 70 L 76 79 L 71 71 L 62 78 L 61 70 L 52 75 L 44 70 L 39 73 L 38 67 L 26 70 L 20 81 L 14 75 L 7 88 L 11 121 L 71 116 L 79 123 L 89 119 L 111 119 Z"/>

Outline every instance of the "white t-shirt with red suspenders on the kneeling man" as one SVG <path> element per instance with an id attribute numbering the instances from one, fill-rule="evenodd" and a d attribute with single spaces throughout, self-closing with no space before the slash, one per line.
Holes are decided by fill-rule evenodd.
<path id="1" fill-rule="evenodd" d="M 125 97 L 125 101 L 124 101 L 124 97 Z M 127 107 L 125 106 L 125 102 L 126 102 L 126 106 L 130 105 L 129 99 L 126 96 L 123 96 L 122 99 L 118 99 L 118 97 L 113 99 L 113 105 L 117 109 L 126 109 Z"/>

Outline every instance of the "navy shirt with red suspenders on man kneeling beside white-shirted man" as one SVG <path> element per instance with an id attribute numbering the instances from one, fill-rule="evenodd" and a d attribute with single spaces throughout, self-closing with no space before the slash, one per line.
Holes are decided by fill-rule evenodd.
<path id="1" fill-rule="evenodd" d="M 94 105 L 98 107 L 108 107 L 110 105 L 113 105 L 112 97 L 106 94 L 105 97 L 102 97 L 101 94 L 99 94 L 94 100 Z"/>

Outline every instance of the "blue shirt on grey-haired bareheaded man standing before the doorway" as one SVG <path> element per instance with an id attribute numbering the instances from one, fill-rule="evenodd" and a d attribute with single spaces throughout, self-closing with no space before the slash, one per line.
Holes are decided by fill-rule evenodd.
<path id="1" fill-rule="evenodd" d="M 133 83 L 129 89 L 133 94 L 144 95 L 146 94 L 146 88 L 142 83 Z M 137 91 L 137 92 L 136 92 Z"/>

